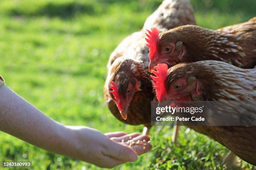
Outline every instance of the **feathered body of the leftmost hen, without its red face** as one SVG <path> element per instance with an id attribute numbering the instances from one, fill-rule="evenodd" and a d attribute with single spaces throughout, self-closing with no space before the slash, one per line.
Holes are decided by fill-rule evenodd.
<path id="1" fill-rule="evenodd" d="M 146 29 L 157 27 L 166 31 L 184 24 L 195 24 L 192 6 L 188 0 L 164 0 L 159 8 L 151 14 L 143 28 L 126 37 L 110 55 L 105 82 L 104 96 L 108 108 L 120 121 L 131 124 L 144 124 L 151 127 L 151 101 L 154 99 L 154 88 L 148 72 L 148 47 L 146 46 Z M 114 97 L 108 92 L 110 82 L 118 80 L 119 93 L 125 96 L 128 80 L 136 77 L 140 82 L 140 91 L 135 92 L 124 120 L 116 106 Z M 113 82 L 114 82 L 113 81 Z"/>

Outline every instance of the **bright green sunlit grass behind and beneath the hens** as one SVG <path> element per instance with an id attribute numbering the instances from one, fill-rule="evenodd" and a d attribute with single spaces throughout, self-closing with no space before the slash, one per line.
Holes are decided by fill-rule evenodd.
<path id="1" fill-rule="evenodd" d="M 192 0 L 197 24 L 217 29 L 255 15 L 254 0 L 224 2 Z M 90 126 L 103 133 L 141 131 L 143 126 L 124 125 L 106 107 L 106 63 L 118 43 L 139 30 L 160 3 L 1 0 L 0 74 L 8 87 L 65 125 Z M 146 158 L 115 169 L 225 168 L 222 159 L 228 150 L 193 130 L 182 127 L 177 146 L 171 143 L 172 127 L 154 127 L 150 136 L 153 149 Z M 32 161 L 36 170 L 98 169 L 0 132 L 0 161 L 5 160 Z M 255 168 L 245 162 L 242 167 Z"/>

